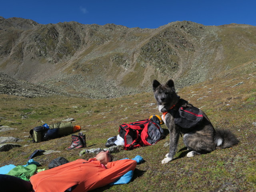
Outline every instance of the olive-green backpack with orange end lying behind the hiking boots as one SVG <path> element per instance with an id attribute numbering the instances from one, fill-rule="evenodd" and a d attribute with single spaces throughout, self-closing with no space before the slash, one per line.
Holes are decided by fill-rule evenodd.
<path id="1" fill-rule="evenodd" d="M 41 142 L 58 138 L 80 130 L 80 126 L 72 125 L 72 122 L 59 122 L 52 125 L 44 124 L 30 130 L 30 137 L 33 142 Z"/>

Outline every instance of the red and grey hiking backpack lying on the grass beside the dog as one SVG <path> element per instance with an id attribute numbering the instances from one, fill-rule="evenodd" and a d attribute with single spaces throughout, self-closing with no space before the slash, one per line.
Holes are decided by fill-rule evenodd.
<path id="1" fill-rule="evenodd" d="M 151 119 L 140 120 L 119 126 L 119 135 L 124 139 L 124 149 L 153 145 L 163 139 L 164 131 L 159 122 Z"/>

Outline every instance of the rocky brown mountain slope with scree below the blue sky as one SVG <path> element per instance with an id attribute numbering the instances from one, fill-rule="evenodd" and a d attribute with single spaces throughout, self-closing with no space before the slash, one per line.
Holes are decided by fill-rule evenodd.
<path id="1" fill-rule="evenodd" d="M 0 72 L 54 92 L 113 98 L 183 87 L 256 60 L 256 27 L 172 22 L 157 29 L 0 17 Z"/>

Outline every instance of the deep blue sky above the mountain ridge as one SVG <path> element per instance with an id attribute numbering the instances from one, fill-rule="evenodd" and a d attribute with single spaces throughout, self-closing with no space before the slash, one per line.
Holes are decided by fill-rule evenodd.
<path id="1" fill-rule="evenodd" d="M 158 28 L 174 21 L 256 26 L 255 0 L 3 0 L 0 16 L 40 24 L 76 21 Z"/>

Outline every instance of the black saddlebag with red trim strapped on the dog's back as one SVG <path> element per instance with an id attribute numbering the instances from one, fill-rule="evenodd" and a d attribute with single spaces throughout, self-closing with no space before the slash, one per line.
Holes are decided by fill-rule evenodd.
<path id="1" fill-rule="evenodd" d="M 174 122 L 182 128 L 193 128 L 201 123 L 203 117 L 204 114 L 194 106 L 180 107 L 174 116 Z"/>

